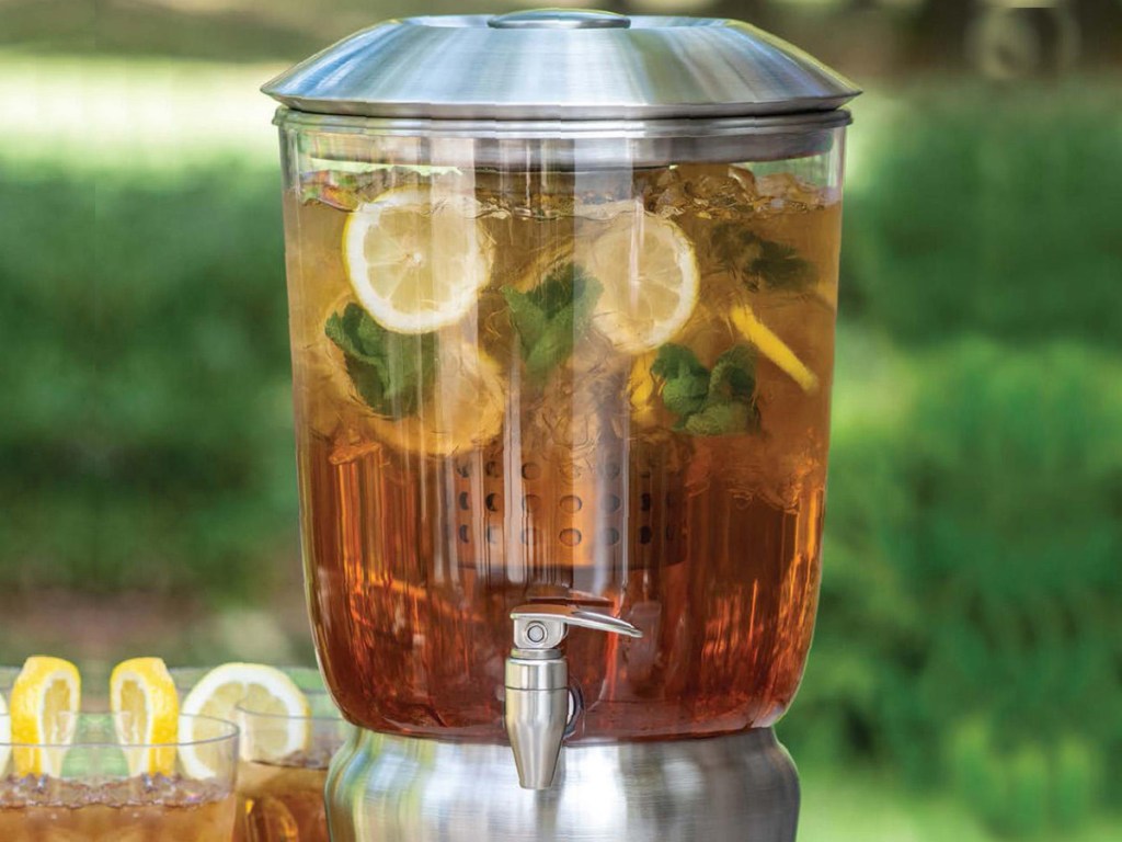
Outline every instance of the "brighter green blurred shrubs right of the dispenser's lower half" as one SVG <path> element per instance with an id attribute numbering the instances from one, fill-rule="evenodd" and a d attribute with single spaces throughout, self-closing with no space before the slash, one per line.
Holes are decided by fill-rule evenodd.
<path id="1" fill-rule="evenodd" d="M 843 337 L 844 339 L 844 337 Z M 795 754 L 891 758 L 1010 833 L 1122 785 L 1122 361 L 962 340 L 836 436 Z"/>

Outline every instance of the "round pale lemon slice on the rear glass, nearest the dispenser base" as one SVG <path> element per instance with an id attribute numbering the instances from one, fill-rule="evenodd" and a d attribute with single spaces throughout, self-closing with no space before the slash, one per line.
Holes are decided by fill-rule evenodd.
<path id="1" fill-rule="evenodd" d="M 182 712 L 190 714 L 180 720 L 182 744 L 180 760 L 183 770 L 192 778 L 213 777 L 219 770 L 209 762 L 210 758 L 192 745 L 192 742 L 218 735 L 215 726 L 208 720 L 192 716 L 210 716 L 226 722 L 238 722 L 237 707 L 245 704 L 254 711 L 277 717 L 276 727 L 267 734 L 255 734 L 255 757 L 280 759 L 307 748 L 307 716 L 311 707 L 300 687 L 279 669 L 260 663 L 223 663 L 199 679 L 191 693 L 183 699 Z M 242 750 L 246 748 L 242 734 Z"/>

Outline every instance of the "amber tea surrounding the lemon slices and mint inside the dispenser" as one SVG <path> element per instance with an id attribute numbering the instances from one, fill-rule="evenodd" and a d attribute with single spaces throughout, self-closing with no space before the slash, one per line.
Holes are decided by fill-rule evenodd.
<path id="1" fill-rule="evenodd" d="M 458 330 L 497 361 L 505 412 L 489 440 L 465 436 L 436 455 L 379 433 L 322 338 L 327 315 L 350 300 L 344 210 L 297 191 L 286 198 L 304 555 L 335 699 L 368 729 L 502 740 L 509 611 L 568 601 L 643 632 L 570 634 L 585 707 L 573 740 L 771 724 L 798 688 L 818 593 L 836 196 L 730 167 L 647 171 L 627 182 L 696 250 L 699 301 L 672 341 L 714 365 L 744 342 L 729 313 L 747 303 L 817 381 L 808 390 L 760 353 L 760 429 L 696 436 L 674 429 L 657 393 L 636 394 L 642 361 L 595 331 L 544 386 L 521 374 L 496 291 L 591 225 L 572 216 L 578 185 L 553 184 L 545 196 L 539 187 L 526 175 L 476 185 L 480 202 L 499 209 L 484 219 L 498 258 Z M 723 223 L 788 247 L 812 267 L 812 284 L 746 285 L 715 245 Z M 462 388 L 458 376 L 438 375 L 434 400 L 470 431 L 478 413 L 448 396 Z"/>

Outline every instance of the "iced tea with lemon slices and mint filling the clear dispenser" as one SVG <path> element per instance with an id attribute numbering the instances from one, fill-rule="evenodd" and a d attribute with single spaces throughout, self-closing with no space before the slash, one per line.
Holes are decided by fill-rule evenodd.
<path id="1" fill-rule="evenodd" d="M 289 174 L 304 556 L 348 719 L 503 740 L 508 615 L 535 600 L 643 632 L 570 635 L 573 740 L 730 732 L 784 712 L 819 582 L 835 154 Z M 386 221 L 404 202 L 420 203 L 412 240 Z M 356 257 L 361 225 L 374 232 Z M 456 248 L 473 256 L 457 264 Z M 450 298 L 454 278 L 403 282 L 386 301 L 356 292 L 356 262 L 386 281 L 425 260 L 434 275 L 487 267 L 453 323 L 412 330 L 393 308 Z"/>

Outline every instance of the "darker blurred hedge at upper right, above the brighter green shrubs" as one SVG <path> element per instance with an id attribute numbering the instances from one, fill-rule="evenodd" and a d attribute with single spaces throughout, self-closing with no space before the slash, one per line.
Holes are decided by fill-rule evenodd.
<path id="1" fill-rule="evenodd" d="M 901 93 L 862 139 L 844 312 L 908 344 L 976 331 L 1122 346 L 1118 85 Z"/>

